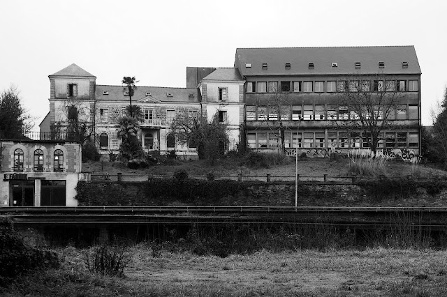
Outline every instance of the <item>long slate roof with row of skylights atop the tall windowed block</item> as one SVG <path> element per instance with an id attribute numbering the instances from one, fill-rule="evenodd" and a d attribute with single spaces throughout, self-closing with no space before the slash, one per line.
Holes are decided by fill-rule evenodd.
<path id="1" fill-rule="evenodd" d="M 379 61 L 385 63 L 379 68 Z M 408 68 L 402 68 L 402 61 Z M 355 63 L 361 68 L 356 69 Z M 251 68 L 246 67 L 251 63 Z M 263 63 L 268 68 L 263 69 Z M 285 64 L 291 63 L 289 70 Z M 314 63 L 314 69 L 309 69 Z M 332 67 L 337 63 L 337 67 Z M 276 47 L 238 48 L 235 67 L 242 77 L 249 75 L 346 75 L 346 74 L 420 74 L 416 50 L 413 45 L 382 47 Z"/>

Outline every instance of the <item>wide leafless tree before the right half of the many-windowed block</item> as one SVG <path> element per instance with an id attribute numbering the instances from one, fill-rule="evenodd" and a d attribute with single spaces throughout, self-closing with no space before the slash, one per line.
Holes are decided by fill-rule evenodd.
<path id="1" fill-rule="evenodd" d="M 359 133 L 376 153 L 385 130 L 398 129 L 394 114 L 403 110 L 404 91 L 399 81 L 389 75 L 349 75 L 339 81 L 339 119 L 334 125 L 349 134 Z M 406 108 L 405 108 L 406 110 Z M 328 109 L 328 118 L 337 119 Z M 341 116 L 340 116 L 341 115 Z M 342 117 L 342 119 L 340 119 Z"/>

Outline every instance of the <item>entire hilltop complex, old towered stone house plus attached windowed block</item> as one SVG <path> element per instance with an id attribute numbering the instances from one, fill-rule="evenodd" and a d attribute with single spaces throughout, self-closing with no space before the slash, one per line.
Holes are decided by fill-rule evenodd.
<path id="1" fill-rule="evenodd" d="M 200 112 L 210 119 L 218 113 L 228 125 L 226 150 L 277 151 L 280 120 L 286 153 L 295 155 L 298 146 L 300 155 L 328 157 L 369 148 L 365 134 L 349 128 L 360 121 L 342 100 L 346 90 L 361 85 L 374 96 L 383 88 L 396 96 L 386 114 L 395 125 L 381 129 L 377 151 L 408 159 L 420 152 L 420 74 L 413 46 L 242 48 L 234 68 L 187 68 L 186 88 L 138 86 L 132 101 L 144 112 L 138 137 L 148 152 L 196 158 L 196 148 L 178 144 L 169 128 L 177 114 Z M 129 105 L 123 86 L 98 85 L 75 64 L 49 78 L 50 112 L 41 131 L 69 123 L 73 110 L 67 107 L 75 107 L 94 127 L 101 153 L 117 151 L 117 119 Z"/>

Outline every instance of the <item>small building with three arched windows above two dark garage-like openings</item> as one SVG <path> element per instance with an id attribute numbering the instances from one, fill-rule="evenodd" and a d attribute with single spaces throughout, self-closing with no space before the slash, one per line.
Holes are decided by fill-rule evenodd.
<path id="1" fill-rule="evenodd" d="M 81 147 L 67 133 L 0 136 L 0 207 L 78 206 Z"/>

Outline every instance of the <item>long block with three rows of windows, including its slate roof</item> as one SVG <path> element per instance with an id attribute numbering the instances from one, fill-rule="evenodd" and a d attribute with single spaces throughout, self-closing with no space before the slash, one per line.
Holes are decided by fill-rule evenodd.
<path id="1" fill-rule="evenodd" d="M 241 48 L 235 68 L 246 81 L 244 121 L 250 148 L 278 149 L 279 106 L 286 126 L 284 146 L 291 155 L 297 145 L 300 155 L 310 157 L 328 157 L 331 149 L 346 153 L 369 148 L 360 130 L 348 129 L 359 119 L 344 105 L 344 96 L 359 89 L 365 96 L 394 96 L 387 114 L 394 127 L 381 130 L 377 151 L 404 159 L 419 154 L 421 73 L 413 46 Z"/>

